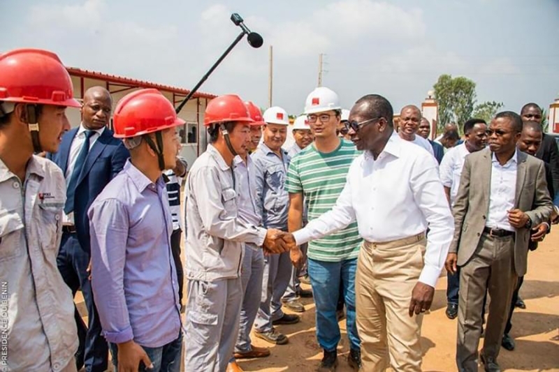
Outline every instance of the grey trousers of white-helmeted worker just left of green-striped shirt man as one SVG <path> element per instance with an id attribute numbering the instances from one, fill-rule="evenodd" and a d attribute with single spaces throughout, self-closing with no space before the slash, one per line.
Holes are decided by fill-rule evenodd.
<path id="1" fill-rule="evenodd" d="M 254 327 L 258 332 L 270 332 L 273 320 L 284 316 L 282 296 L 291 279 L 291 260 L 289 252 L 269 255 L 264 258 L 264 276 L 262 279 L 262 297 Z"/>

